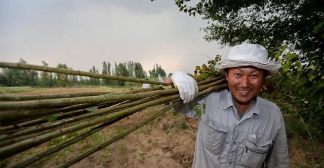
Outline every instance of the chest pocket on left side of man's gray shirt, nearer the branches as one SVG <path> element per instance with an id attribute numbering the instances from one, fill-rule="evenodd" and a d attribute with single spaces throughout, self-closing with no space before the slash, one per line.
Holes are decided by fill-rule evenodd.
<path id="1" fill-rule="evenodd" d="M 210 152 L 219 156 L 222 151 L 223 142 L 227 132 L 228 128 L 222 124 L 210 120 L 204 122 L 204 128 L 201 133 L 203 146 Z"/>

